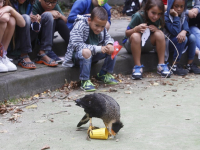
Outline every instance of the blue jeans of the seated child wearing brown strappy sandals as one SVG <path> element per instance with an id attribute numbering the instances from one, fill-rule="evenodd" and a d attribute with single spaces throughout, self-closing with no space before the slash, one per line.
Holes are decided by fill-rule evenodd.
<path id="1" fill-rule="evenodd" d="M 31 19 L 30 16 L 23 14 L 22 15 L 26 26 L 16 27 L 16 49 L 19 49 L 21 53 L 30 53 L 32 52 L 31 42 L 34 41 L 38 34 L 40 37 L 40 50 L 48 51 L 52 49 L 53 42 L 53 23 L 54 19 L 50 12 L 45 12 L 41 15 L 41 29 L 39 32 L 34 32 L 31 29 Z"/>

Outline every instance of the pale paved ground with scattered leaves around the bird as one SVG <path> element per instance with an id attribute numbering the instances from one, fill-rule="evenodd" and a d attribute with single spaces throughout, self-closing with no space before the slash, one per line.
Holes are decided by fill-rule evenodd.
<path id="1" fill-rule="evenodd" d="M 88 94 L 77 89 L 66 98 L 63 91 L 52 92 L 51 96 L 56 94 L 54 98 L 45 96 L 35 109 L 23 108 L 17 122 L 8 121 L 11 113 L 0 115 L 0 149 L 38 150 L 45 145 L 53 150 L 200 149 L 199 76 L 161 80 L 155 74 L 147 74 L 140 81 L 129 80 L 129 76 L 125 81 L 112 86 L 117 92 L 107 92 L 109 86 L 104 85 L 96 91 L 112 96 L 121 106 L 124 128 L 116 139 L 87 141 L 88 124 L 76 131 L 84 112 L 72 99 Z M 100 119 L 93 119 L 93 124 L 104 127 Z"/>

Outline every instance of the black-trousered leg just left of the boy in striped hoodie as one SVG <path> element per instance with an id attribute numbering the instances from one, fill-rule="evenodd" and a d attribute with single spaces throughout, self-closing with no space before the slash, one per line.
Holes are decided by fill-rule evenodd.
<path id="1" fill-rule="evenodd" d="M 55 19 L 53 26 L 54 26 L 54 32 L 58 31 L 58 33 L 64 39 L 65 43 L 68 45 L 70 30 L 68 29 L 66 23 L 62 19 Z"/>

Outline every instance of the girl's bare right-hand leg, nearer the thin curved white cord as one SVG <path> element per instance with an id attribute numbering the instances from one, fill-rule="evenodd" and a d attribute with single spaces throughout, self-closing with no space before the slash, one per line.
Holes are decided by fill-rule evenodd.
<path id="1" fill-rule="evenodd" d="M 164 64 L 165 58 L 165 37 L 162 31 L 158 30 L 151 35 L 151 43 L 156 46 L 158 64 Z"/>

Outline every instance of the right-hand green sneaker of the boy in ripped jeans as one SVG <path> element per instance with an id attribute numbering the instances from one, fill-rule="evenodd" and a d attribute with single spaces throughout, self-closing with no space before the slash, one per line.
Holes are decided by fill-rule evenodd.
<path id="1" fill-rule="evenodd" d="M 103 81 L 106 84 L 118 84 L 118 81 L 115 80 L 115 78 L 110 73 L 107 73 L 102 76 L 99 76 L 99 73 L 98 73 L 97 80 Z"/>

